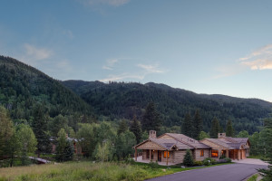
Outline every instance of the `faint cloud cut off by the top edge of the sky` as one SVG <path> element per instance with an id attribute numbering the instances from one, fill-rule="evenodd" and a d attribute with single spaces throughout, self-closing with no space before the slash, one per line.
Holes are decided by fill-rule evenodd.
<path id="1" fill-rule="evenodd" d="M 111 6 L 121 6 L 129 3 L 130 0 L 82 0 L 84 5 L 111 5 Z"/>

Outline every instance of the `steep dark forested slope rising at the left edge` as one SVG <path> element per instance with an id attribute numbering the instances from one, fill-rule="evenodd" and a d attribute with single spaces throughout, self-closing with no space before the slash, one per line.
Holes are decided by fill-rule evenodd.
<path id="1" fill-rule="evenodd" d="M 13 58 L 0 56 L 0 105 L 13 119 L 31 119 L 34 106 L 44 105 L 51 117 L 73 113 L 92 115 L 92 107 L 60 81 Z"/>

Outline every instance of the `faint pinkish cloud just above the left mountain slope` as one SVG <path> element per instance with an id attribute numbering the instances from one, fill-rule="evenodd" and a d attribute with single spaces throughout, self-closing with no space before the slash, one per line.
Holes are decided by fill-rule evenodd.
<path id="1" fill-rule="evenodd" d="M 27 56 L 28 59 L 36 61 L 48 59 L 53 55 L 53 52 L 48 49 L 37 48 L 34 45 L 28 43 L 24 44 L 24 50 L 25 56 Z"/>

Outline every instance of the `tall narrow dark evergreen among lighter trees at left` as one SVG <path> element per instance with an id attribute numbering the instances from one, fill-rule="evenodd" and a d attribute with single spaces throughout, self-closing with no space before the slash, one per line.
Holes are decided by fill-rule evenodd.
<path id="1" fill-rule="evenodd" d="M 41 153 L 48 153 L 49 150 L 49 136 L 46 133 L 47 123 L 44 115 L 44 108 L 38 104 L 34 109 L 33 130 L 37 138 L 37 154 L 40 157 Z"/>

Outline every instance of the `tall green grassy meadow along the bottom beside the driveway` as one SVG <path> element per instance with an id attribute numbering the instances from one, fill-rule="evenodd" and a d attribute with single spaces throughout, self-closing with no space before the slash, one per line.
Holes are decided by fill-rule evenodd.
<path id="1" fill-rule="evenodd" d="M 57 165 L 0 168 L 0 181 L 144 180 L 198 168 L 200 167 L 151 168 L 147 164 L 70 162 Z"/>

